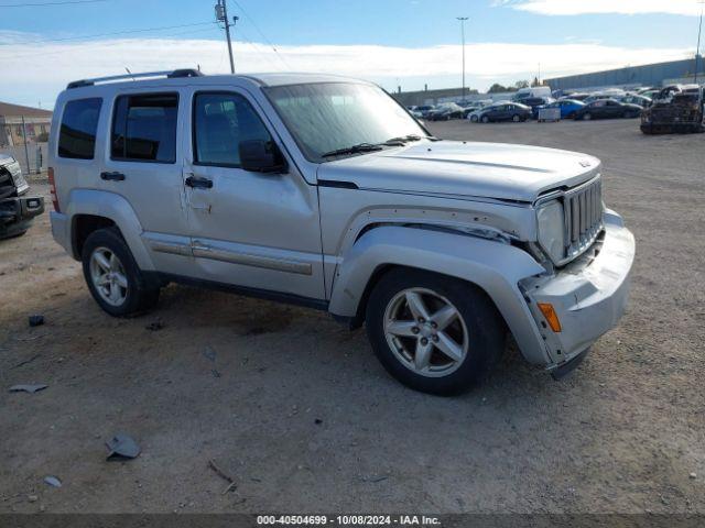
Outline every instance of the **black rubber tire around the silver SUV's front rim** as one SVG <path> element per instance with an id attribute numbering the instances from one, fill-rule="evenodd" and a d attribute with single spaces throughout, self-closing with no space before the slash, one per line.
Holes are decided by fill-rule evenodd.
<path id="1" fill-rule="evenodd" d="M 413 371 L 402 363 L 387 341 L 386 310 L 395 296 L 408 288 L 432 290 L 449 300 L 465 323 L 467 354 L 447 375 L 429 377 Z M 376 285 L 367 304 L 366 327 L 372 349 L 389 374 L 410 388 L 442 396 L 479 384 L 501 359 L 507 334 L 501 315 L 480 288 L 460 279 L 409 268 L 394 268 Z M 434 353 L 440 352 L 434 349 Z"/>

